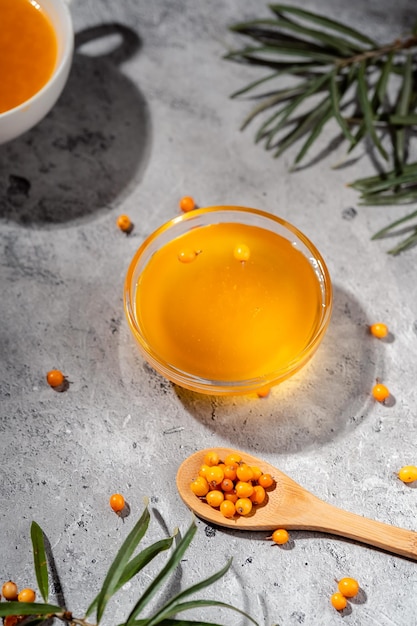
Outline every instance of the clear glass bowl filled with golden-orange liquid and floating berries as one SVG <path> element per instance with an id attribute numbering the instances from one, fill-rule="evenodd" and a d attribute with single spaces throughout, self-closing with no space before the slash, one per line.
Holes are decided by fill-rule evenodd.
<path id="1" fill-rule="evenodd" d="M 302 368 L 330 321 L 326 264 L 270 213 L 201 208 L 153 232 L 125 281 L 130 330 L 146 361 L 192 391 L 267 390 Z"/>

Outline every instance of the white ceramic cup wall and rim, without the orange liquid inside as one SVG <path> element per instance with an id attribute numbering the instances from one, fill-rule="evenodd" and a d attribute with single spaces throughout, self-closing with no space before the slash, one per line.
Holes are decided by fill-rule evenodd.
<path id="1" fill-rule="evenodd" d="M 19 106 L 0 114 L 0 144 L 35 126 L 52 109 L 67 82 L 74 52 L 74 30 L 66 0 L 40 0 L 55 29 L 58 54 L 54 72 L 44 87 Z"/>

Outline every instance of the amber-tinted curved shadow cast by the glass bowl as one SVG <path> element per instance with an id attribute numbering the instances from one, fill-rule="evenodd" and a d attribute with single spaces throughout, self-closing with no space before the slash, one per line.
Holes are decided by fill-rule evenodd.
<path id="1" fill-rule="evenodd" d="M 373 405 L 375 379 L 383 377 L 383 353 L 359 302 L 335 286 L 332 320 L 316 355 L 267 398 L 175 390 L 185 409 L 224 445 L 255 454 L 300 452 L 325 445 L 363 421 Z"/>

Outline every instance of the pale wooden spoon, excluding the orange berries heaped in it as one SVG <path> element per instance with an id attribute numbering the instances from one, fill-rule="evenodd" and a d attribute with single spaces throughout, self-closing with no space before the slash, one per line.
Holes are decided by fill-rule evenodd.
<path id="1" fill-rule="evenodd" d="M 220 459 L 224 459 L 232 452 L 238 452 L 245 463 L 258 466 L 264 473 L 271 474 L 276 485 L 268 490 L 266 504 L 254 507 L 248 516 L 228 519 L 218 509 L 212 508 L 194 495 L 190 483 L 198 475 L 204 456 L 211 450 L 217 452 Z M 229 448 L 210 448 L 192 454 L 178 469 L 177 487 L 182 500 L 198 517 L 218 526 L 237 530 L 270 531 L 286 528 L 320 531 L 355 539 L 394 554 L 417 559 L 417 532 L 361 517 L 328 504 L 276 467 L 246 452 Z"/>

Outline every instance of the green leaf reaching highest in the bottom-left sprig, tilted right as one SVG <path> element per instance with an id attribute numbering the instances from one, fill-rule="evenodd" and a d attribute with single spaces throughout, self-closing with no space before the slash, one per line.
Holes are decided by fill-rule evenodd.
<path id="1" fill-rule="evenodd" d="M 129 535 L 125 539 L 116 555 L 112 565 L 110 566 L 107 576 L 104 580 L 103 586 L 97 598 L 97 623 L 101 620 L 104 610 L 108 601 L 119 588 L 120 579 L 123 576 L 126 565 L 129 562 L 130 557 L 135 551 L 138 543 L 141 541 L 146 533 L 149 525 L 150 515 L 148 508 L 146 507 L 139 521 L 134 528 L 130 531 Z M 94 604 L 94 600 L 93 600 Z M 91 605 L 88 608 L 90 611 Z M 87 615 L 89 614 L 87 611 Z"/>

